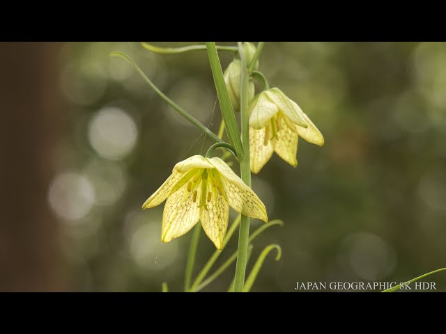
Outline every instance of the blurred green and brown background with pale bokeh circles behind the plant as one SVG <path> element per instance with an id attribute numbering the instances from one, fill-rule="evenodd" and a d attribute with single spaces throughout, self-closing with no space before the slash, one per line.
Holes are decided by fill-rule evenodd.
<path id="1" fill-rule="evenodd" d="M 0 49 L 0 289 L 157 292 L 165 281 L 181 291 L 192 233 L 162 244 L 164 205 L 141 205 L 176 162 L 213 142 L 109 52 L 131 56 L 217 132 L 206 51 L 156 55 L 137 42 Z M 223 68 L 232 58 L 220 51 Z M 283 252 L 279 262 L 268 257 L 252 291 L 293 292 L 296 281 L 401 282 L 446 267 L 446 43 L 267 42 L 260 70 L 307 113 L 325 145 L 300 140 L 297 168 L 274 155 L 253 176 L 268 217 L 285 225 L 254 242 L 248 271 L 264 246 Z M 202 233 L 196 269 L 214 250 Z M 234 268 L 203 291 L 225 291 Z M 445 274 L 430 280 L 446 291 Z"/>

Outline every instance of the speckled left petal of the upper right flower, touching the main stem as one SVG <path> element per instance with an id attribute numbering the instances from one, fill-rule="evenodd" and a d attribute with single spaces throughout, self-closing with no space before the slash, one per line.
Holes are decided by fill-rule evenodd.
<path id="1" fill-rule="evenodd" d="M 251 171 L 254 174 L 260 172 L 274 152 L 271 141 L 265 145 L 266 128 L 256 130 L 249 127 L 249 156 L 251 159 Z"/>

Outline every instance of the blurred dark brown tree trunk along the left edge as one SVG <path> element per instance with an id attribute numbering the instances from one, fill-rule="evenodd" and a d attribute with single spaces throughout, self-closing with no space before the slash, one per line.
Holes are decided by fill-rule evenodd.
<path id="1" fill-rule="evenodd" d="M 0 42 L 0 290 L 65 289 L 49 212 L 61 43 Z"/>

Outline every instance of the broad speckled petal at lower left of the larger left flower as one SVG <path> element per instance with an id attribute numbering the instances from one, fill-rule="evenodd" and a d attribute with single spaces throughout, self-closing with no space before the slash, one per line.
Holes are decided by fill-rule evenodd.
<path id="1" fill-rule="evenodd" d="M 162 212 L 162 242 L 169 242 L 171 239 L 182 236 L 199 221 L 200 208 L 198 205 L 200 196 L 201 187 L 199 186 L 194 202 L 193 191 L 187 191 L 187 184 L 184 184 L 167 198 Z"/>

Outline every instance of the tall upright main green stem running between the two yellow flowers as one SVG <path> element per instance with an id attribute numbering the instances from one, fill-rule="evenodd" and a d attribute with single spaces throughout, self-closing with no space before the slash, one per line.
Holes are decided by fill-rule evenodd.
<path id="1" fill-rule="evenodd" d="M 246 64 L 245 53 L 243 52 L 242 42 L 238 42 L 238 53 L 240 54 L 241 75 L 240 75 L 240 118 L 243 152 L 245 156 L 239 159 L 240 176 L 247 186 L 251 186 L 251 170 L 249 163 L 249 115 L 248 115 L 248 84 L 249 74 Z M 257 54 L 257 52 L 256 52 Z M 255 56 L 254 56 L 255 58 Z M 255 59 L 253 59 L 255 61 Z M 249 217 L 242 216 L 240 221 L 240 231 L 238 234 L 238 253 L 236 264 L 236 278 L 234 280 L 234 292 L 243 292 L 245 282 L 245 271 L 247 264 L 249 239 Z"/>

